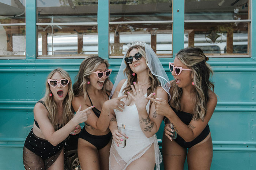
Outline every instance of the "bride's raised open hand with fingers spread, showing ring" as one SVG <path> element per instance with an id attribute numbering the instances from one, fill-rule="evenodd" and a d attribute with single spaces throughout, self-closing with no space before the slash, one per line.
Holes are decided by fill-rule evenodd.
<path id="1" fill-rule="evenodd" d="M 143 109 L 146 108 L 146 105 L 148 103 L 148 99 L 146 99 L 146 97 L 144 96 L 144 93 L 143 93 L 142 86 L 141 86 L 140 82 L 138 82 L 138 84 L 136 84 L 136 82 L 133 82 L 133 84 L 135 86 L 135 88 L 134 88 L 134 86 L 131 85 L 133 95 L 130 92 L 127 92 L 127 93 L 134 100 L 134 103 L 137 107 L 137 110 L 143 110 Z M 152 97 L 153 95 L 155 95 L 155 93 L 150 95 L 150 97 Z"/>

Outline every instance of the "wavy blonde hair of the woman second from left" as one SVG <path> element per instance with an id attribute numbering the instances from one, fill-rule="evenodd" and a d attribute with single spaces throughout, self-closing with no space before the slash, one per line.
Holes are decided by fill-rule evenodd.
<path id="1" fill-rule="evenodd" d="M 77 80 L 74 85 L 73 85 L 73 90 L 75 96 L 84 96 L 84 101 L 86 100 L 86 95 L 87 95 L 87 88 L 89 87 L 89 76 L 95 71 L 100 64 L 106 64 L 106 67 L 109 67 L 108 60 L 104 60 L 100 58 L 97 55 L 92 55 L 87 57 L 86 59 L 83 60 L 83 62 L 80 64 L 79 72 L 78 75 L 76 75 L 75 79 Z M 105 94 L 107 91 L 106 83 L 109 82 L 109 77 L 106 79 L 106 81 L 103 84 L 103 91 L 102 94 Z M 105 95 L 104 95 L 105 96 Z"/>

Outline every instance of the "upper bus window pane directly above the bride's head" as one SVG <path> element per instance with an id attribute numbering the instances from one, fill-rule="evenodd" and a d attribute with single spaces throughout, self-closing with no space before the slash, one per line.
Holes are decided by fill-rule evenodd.
<path id="1" fill-rule="evenodd" d="M 109 21 L 172 20 L 172 0 L 110 0 Z"/>

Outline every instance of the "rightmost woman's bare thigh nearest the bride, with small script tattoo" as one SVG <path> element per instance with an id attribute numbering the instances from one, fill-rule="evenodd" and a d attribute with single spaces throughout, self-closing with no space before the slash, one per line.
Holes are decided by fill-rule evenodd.
<path id="1" fill-rule="evenodd" d="M 163 134 L 162 153 L 165 170 L 183 170 L 187 149 L 178 145 L 174 140 L 170 141 L 165 134 Z"/>

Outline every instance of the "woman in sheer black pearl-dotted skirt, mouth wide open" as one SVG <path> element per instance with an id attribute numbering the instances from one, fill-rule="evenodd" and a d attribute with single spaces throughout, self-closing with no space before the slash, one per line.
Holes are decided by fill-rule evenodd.
<path id="1" fill-rule="evenodd" d="M 66 71 L 55 69 L 47 76 L 46 93 L 34 107 L 34 124 L 23 148 L 25 169 L 64 170 L 64 143 L 70 133 L 78 134 L 79 123 L 87 120 L 89 107 L 79 107 L 73 116 L 74 98 L 71 79 Z M 73 118 L 72 118 L 73 117 Z"/>

